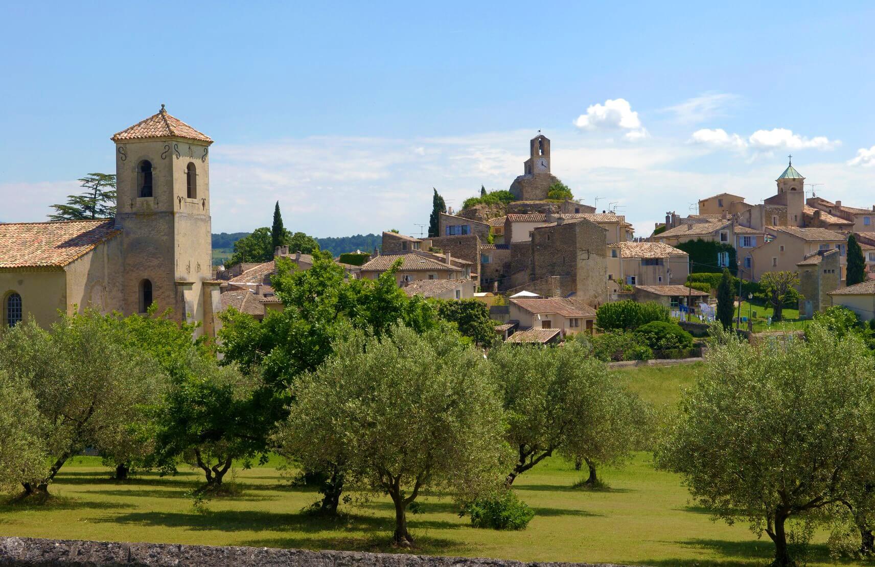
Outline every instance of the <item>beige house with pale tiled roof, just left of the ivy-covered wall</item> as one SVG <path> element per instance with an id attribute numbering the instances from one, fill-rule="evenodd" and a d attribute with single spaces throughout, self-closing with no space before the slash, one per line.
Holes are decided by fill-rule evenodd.
<path id="1" fill-rule="evenodd" d="M 690 255 L 662 242 L 616 242 L 607 248 L 607 279 L 616 289 L 623 283 L 685 282 L 690 275 Z"/>

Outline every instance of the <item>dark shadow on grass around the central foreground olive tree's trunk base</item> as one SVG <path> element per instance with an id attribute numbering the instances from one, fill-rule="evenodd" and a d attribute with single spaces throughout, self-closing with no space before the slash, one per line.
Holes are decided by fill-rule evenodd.
<path id="1" fill-rule="evenodd" d="M 442 537 L 418 535 L 415 529 L 410 529 L 414 544 L 410 549 L 402 549 L 392 544 L 394 522 L 389 522 L 380 533 L 369 533 L 362 537 L 270 537 L 241 542 L 240 545 L 251 547 L 295 548 L 295 549 L 339 549 L 343 551 L 368 551 L 371 553 L 395 553 L 416 555 L 458 555 L 468 550 L 465 542 L 456 542 Z"/>

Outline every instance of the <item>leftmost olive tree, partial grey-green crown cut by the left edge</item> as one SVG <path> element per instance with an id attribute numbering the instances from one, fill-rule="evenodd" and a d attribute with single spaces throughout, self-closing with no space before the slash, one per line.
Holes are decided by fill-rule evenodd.
<path id="1" fill-rule="evenodd" d="M 0 490 L 45 478 L 45 421 L 26 381 L 0 370 Z"/>

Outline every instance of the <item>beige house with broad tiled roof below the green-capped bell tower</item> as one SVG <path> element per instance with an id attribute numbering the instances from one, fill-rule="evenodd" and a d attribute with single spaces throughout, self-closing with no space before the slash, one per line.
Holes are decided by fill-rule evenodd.
<path id="1" fill-rule="evenodd" d="M 754 280 L 768 271 L 795 271 L 796 263 L 815 254 L 818 250 L 835 248 L 839 251 L 841 272 L 847 260 L 847 239 L 826 228 L 774 227 L 768 229 L 771 240 L 753 248 L 748 255 L 739 255 L 740 264 L 753 275 Z"/>

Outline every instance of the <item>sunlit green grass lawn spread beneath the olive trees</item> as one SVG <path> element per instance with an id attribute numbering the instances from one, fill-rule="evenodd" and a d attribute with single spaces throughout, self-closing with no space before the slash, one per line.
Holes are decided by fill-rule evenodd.
<path id="1" fill-rule="evenodd" d="M 620 376 L 628 387 L 657 405 L 676 403 L 700 365 L 641 367 Z M 276 470 L 237 470 L 240 493 L 211 500 L 198 511 L 185 497 L 203 481 L 181 469 L 175 477 L 146 472 L 130 481 L 109 479 L 99 458 L 79 457 L 65 465 L 42 507 L 0 506 L 0 534 L 35 537 L 251 545 L 305 549 L 395 551 L 388 545 L 394 514 L 385 497 L 342 506 L 339 521 L 300 514 L 318 499 L 304 487 L 289 486 Z M 535 509 L 535 519 L 519 532 L 470 527 L 453 502 L 439 495 L 421 498 L 422 513 L 409 516 L 416 553 L 493 556 L 528 561 L 642 563 L 650 565 L 762 565 L 772 546 L 739 523 L 710 520 L 690 502 L 673 474 L 655 471 L 649 453 L 637 453 L 622 468 L 601 476 L 610 486 L 586 491 L 571 486 L 582 476 L 561 458 L 550 458 L 522 474 L 514 488 Z M 809 564 L 830 558 L 818 534 Z M 848 563 L 850 564 L 850 563 Z"/>

